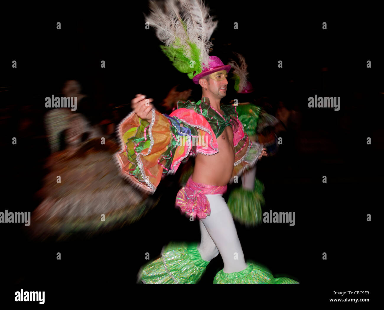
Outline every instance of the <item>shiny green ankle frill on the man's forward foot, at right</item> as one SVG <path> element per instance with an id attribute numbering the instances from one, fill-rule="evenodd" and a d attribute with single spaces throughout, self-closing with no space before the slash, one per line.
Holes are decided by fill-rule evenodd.
<path id="1" fill-rule="evenodd" d="M 299 282 L 286 277 L 274 278 L 267 267 L 256 262 L 247 262 L 248 267 L 242 271 L 229 274 L 220 270 L 214 284 L 298 284 Z"/>

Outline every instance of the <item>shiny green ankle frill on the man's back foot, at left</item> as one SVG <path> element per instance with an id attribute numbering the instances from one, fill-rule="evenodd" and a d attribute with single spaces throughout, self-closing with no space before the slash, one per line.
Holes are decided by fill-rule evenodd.
<path id="1" fill-rule="evenodd" d="M 194 284 L 199 282 L 210 261 L 204 261 L 197 242 L 171 242 L 162 250 L 161 257 L 145 265 L 139 280 L 145 284 Z"/>

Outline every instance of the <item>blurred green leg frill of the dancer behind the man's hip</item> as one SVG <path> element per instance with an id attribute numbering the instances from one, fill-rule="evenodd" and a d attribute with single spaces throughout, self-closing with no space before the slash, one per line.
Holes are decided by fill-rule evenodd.
<path id="1" fill-rule="evenodd" d="M 247 227 L 260 224 L 262 221 L 262 205 L 265 203 L 263 191 L 264 185 L 258 179 L 255 179 L 253 191 L 242 186 L 232 190 L 227 205 L 233 219 Z"/>

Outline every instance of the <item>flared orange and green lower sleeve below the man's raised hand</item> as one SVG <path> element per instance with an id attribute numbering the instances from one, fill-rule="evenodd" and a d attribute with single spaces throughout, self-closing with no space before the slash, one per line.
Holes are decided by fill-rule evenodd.
<path id="1" fill-rule="evenodd" d="M 197 135 L 195 128 L 186 131 L 157 110 L 152 110 L 151 123 L 132 112 L 118 128 L 122 149 L 116 158 L 122 174 L 137 188 L 154 193 L 162 176 L 174 173 L 190 155 L 191 143 L 183 145 L 179 138 L 190 141 L 192 134 Z"/>

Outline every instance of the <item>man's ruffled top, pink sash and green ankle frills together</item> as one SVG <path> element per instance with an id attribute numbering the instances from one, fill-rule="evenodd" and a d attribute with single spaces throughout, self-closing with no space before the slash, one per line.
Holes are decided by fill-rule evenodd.
<path id="1" fill-rule="evenodd" d="M 152 110 L 151 123 L 132 112 L 118 128 L 121 151 L 116 153 L 122 174 L 134 186 L 153 193 L 162 177 L 175 173 L 197 153 L 214 155 L 219 152 L 217 137 L 227 126 L 233 130 L 235 163 L 232 178 L 239 176 L 257 162 L 262 145 L 250 141 L 238 119 L 236 107 L 222 105 L 224 115 L 210 106 L 208 98 L 198 102 L 181 102 L 170 115 Z M 192 145 L 192 138 L 202 137 L 205 143 Z M 187 143 L 179 143 L 184 138 Z M 176 205 L 187 215 L 204 219 L 210 214 L 209 201 L 205 195 L 222 194 L 227 186 L 209 186 L 195 183 L 190 177 L 182 188 Z M 149 262 L 139 272 L 143 283 L 197 283 L 210 261 L 202 259 L 197 243 L 171 242 L 163 248 L 161 257 Z M 226 274 L 220 270 L 214 283 L 297 283 L 288 278 L 275 279 L 273 275 L 253 262 L 240 272 Z"/>

